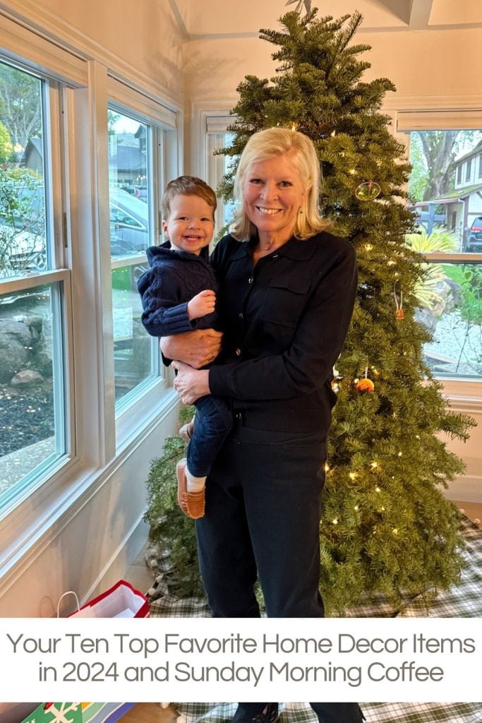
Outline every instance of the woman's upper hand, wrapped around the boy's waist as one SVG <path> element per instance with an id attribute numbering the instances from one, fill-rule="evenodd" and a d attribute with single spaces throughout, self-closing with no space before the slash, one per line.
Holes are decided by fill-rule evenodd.
<path id="1" fill-rule="evenodd" d="M 163 336 L 160 349 L 166 359 L 180 359 L 194 369 L 205 367 L 218 356 L 223 334 L 214 329 L 197 329 Z"/>

